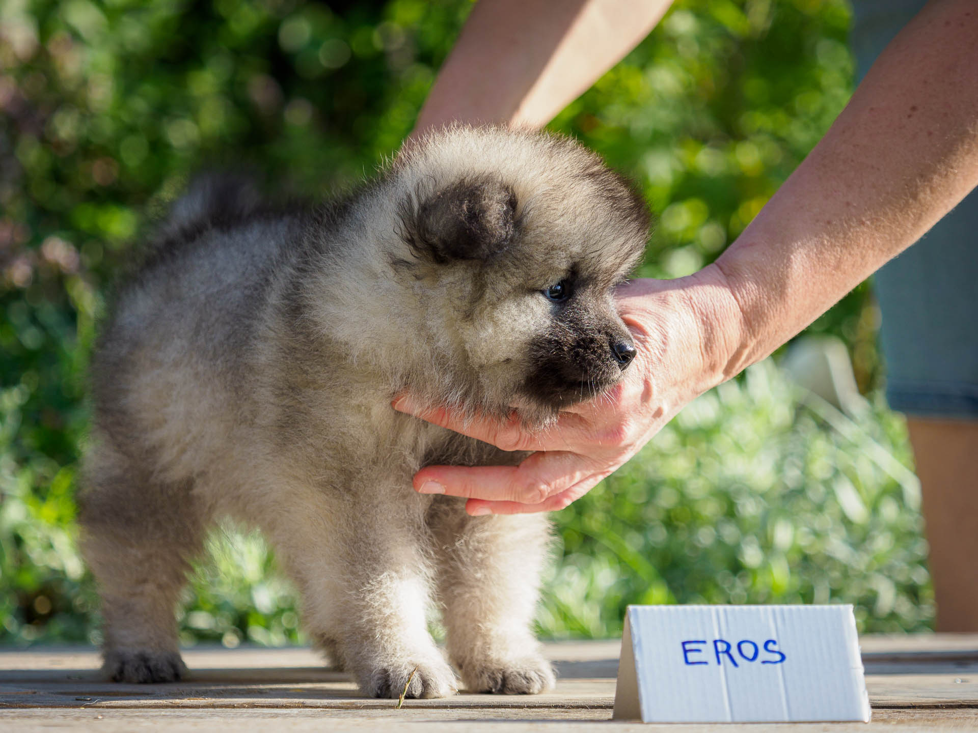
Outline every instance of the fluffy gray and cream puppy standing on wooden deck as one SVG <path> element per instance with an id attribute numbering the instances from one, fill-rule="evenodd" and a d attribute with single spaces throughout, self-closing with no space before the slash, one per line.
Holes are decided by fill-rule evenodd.
<path id="1" fill-rule="evenodd" d="M 344 200 L 277 209 L 204 178 L 119 292 L 94 357 L 80 496 L 106 670 L 184 670 L 174 607 L 204 534 L 256 527 L 304 624 L 364 693 L 440 697 L 554 682 L 531 622 L 549 524 L 422 496 L 431 463 L 514 464 L 391 409 L 410 391 L 545 425 L 635 356 L 612 291 L 641 257 L 645 204 L 551 135 L 456 127 Z"/>

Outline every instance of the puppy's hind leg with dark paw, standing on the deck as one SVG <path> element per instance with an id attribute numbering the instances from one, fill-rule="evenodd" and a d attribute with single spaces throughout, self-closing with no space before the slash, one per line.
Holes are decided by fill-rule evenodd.
<path id="1" fill-rule="evenodd" d="M 106 467 L 90 468 L 78 516 L 102 597 L 103 670 L 117 682 L 171 682 L 186 671 L 175 608 L 202 547 L 203 518 L 189 486 Z"/>

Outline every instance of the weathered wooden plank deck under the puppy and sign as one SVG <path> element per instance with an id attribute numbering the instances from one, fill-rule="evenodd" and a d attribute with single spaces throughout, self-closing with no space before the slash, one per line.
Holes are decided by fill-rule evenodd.
<path id="1" fill-rule="evenodd" d="M 725 725 L 725 731 L 956 729 L 978 731 L 978 634 L 862 639 L 872 722 Z M 611 722 L 619 642 L 547 647 L 559 682 L 546 695 L 461 694 L 397 701 L 357 696 L 308 649 L 196 648 L 191 678 L 173 684 L 103 681 L 88 648 L 0 651 L 0 730 L 173 731 L 614 731 L 717 726 Z"/>

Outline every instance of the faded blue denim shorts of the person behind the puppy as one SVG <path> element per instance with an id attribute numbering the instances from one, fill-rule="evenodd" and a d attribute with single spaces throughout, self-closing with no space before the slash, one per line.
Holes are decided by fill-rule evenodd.
<path id="1" fill-rule="evenodd" d="M 926 4 L 856 0 L 857 78 Z M 978 189 L 874 276 L 890 407 L 978 419 Z"/>

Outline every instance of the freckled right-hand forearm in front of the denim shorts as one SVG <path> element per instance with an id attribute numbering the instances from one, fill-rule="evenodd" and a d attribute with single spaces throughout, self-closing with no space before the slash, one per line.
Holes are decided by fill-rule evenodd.
<path id="1" fill-rule="evenodd" d="M 975 49 L 974 3 L 931 3 L 717 261 L 743 315 L 725 376 L 818 318 L 978 185 Z"/>

